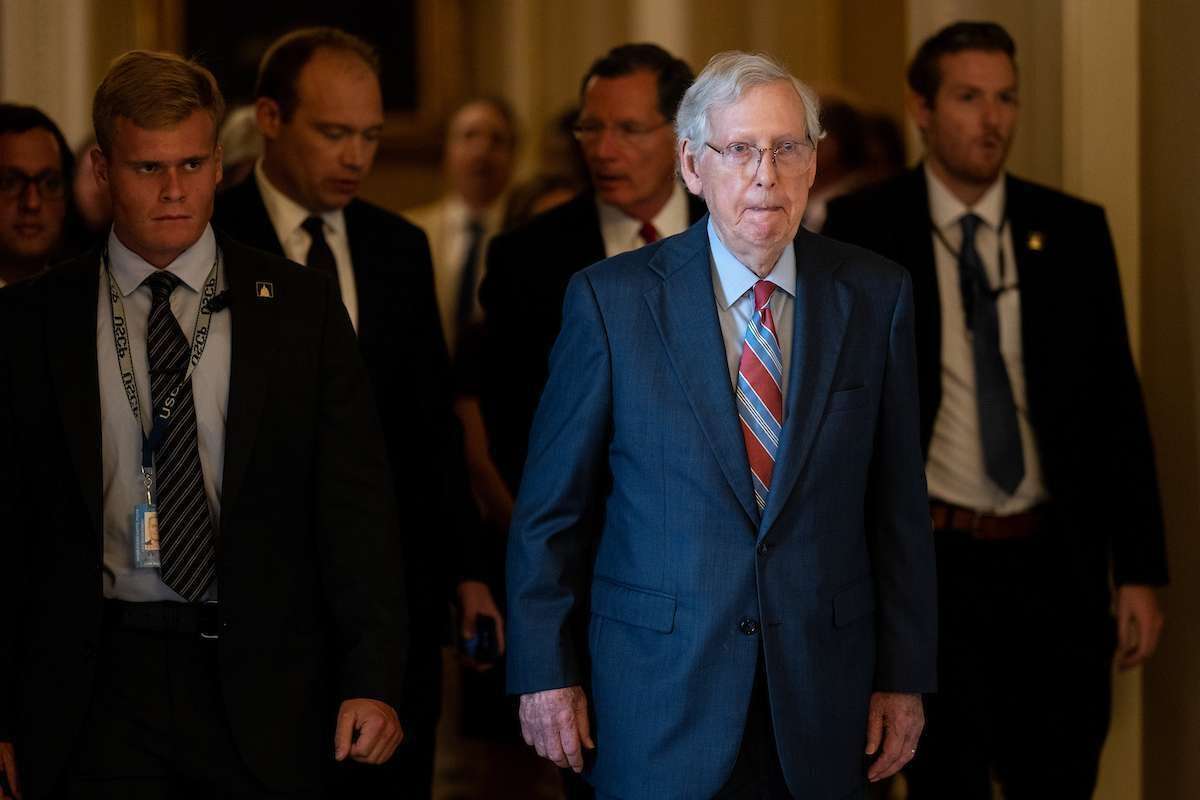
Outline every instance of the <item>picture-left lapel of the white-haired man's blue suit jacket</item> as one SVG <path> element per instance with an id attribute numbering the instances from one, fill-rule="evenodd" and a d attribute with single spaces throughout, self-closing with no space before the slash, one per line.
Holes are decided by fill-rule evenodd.
<path id="1" fill-rule="evenodd" d="M 716 319 L 707 218 L 662 245 L 649 266 L 664 277 L 646 293 L 659 336 L 725 479 L 757 524 L 758 509 Z"/>

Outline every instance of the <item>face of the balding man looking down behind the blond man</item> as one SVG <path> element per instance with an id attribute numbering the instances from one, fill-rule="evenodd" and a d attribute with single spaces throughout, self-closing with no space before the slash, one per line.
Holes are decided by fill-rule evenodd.
<path id="1" fill-rule="evenodd" d="M 371 172 L 383 132 L 383 94 L 371 66 L 353 53 L 318 49 L 296 78 L 296 108 L 284 120 L 260 97 L 263 169 L 308 211 L 344 207 Z"/>

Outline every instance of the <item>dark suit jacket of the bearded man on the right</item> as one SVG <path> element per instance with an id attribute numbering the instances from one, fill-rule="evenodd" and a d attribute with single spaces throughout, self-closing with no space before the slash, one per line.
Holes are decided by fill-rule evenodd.
<path id="1" fill-rule="evenodd" d="M 1154 457 L 1104 209 L 1006 180 L 1030 423 L 1055 517 L 1076 540 L 1080 577 L 1091 589 L 1106 593 L 1110 551 L 1118 585 L 1163 584 Z M 942 303 L 931 225 L 925 174 L 917 167 L 833 200 L 823 228 L 912 275 L 926 451 L 942 396 Z"/>

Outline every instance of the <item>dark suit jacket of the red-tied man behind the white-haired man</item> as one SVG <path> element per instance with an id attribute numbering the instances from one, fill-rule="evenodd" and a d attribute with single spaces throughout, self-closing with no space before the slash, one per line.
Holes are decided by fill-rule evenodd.
<path id="1" fill-rule="evenodd" d="M 704 215 L 688 196 L 688 217 Z M 492 456 L 514 491 L 521 481 L 533 413 L 546 385 L 550 349 L 563 319 L 566 283 L 605 258 L 595 196 L 569 203 L 492 240 L 479 290 L 486 317 L 480 405 Z"/>

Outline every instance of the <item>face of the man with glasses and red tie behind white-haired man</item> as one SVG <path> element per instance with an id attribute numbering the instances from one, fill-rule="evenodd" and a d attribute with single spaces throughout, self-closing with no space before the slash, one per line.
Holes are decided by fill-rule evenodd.
<path id="1" fill-rule="evenodd" d="M 674 130 L 659 112 L 658 76 L 594 77 L 575 127 L 600 199 L 649 222 L 674 190 Z"/>

